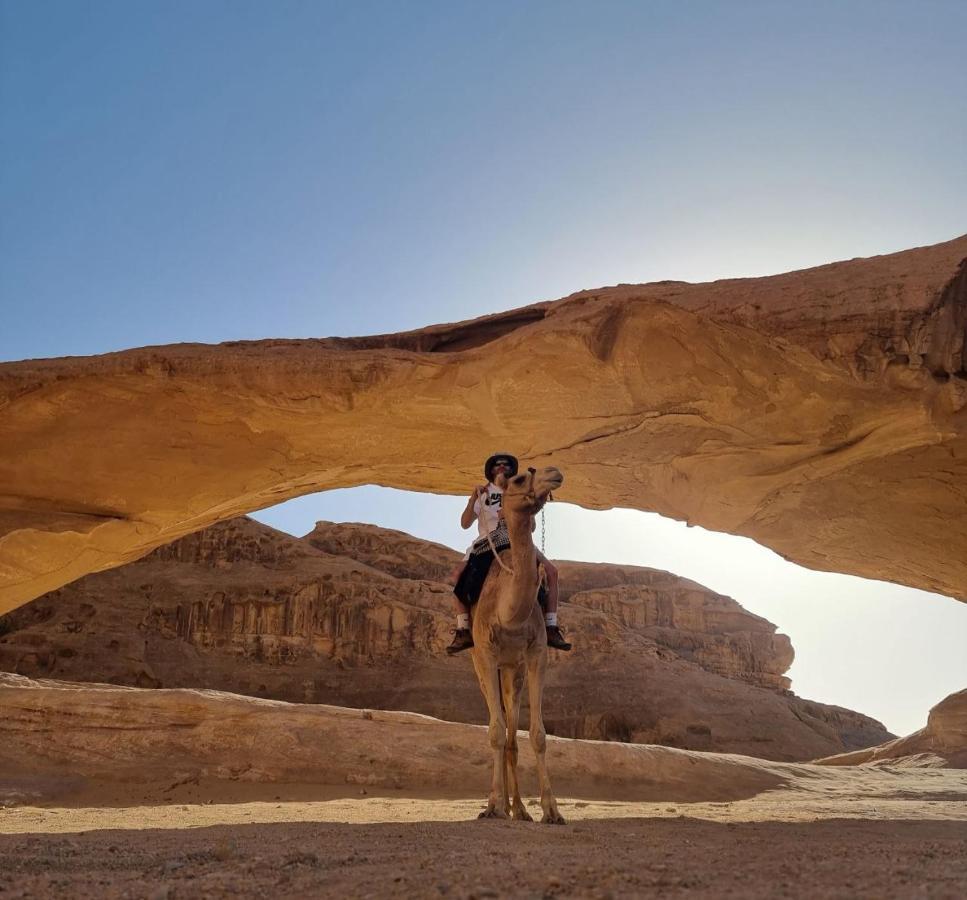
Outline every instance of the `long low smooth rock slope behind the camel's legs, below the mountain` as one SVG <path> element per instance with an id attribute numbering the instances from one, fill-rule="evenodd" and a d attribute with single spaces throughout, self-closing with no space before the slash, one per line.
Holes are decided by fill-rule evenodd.
<path id="1" fill-rule="evenodd" d="M 14 735 L 0 742 L 0 771 L 29 786 L 27 801 L 61 798 L 88 779 L 139 788 L 218 779 L 476 797 L 486 793 L 493 766 L 479 726 L 208 691 L 0 673 L 0 716 Z M 737 800 L 779 787 L 802 768 L 553 737 L 548 757 L 559 794 L 624 801 Z M 526 741 L 520 771 L 536 783 Z"/>

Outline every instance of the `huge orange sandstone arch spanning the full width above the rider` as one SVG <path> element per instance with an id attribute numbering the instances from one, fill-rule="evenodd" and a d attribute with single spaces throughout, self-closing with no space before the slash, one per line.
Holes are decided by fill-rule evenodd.
<path id="1" fill-rule="evenodd" d="M 405 334 L 5 363 L 0 612 L 312 491 L 462 492 L 495 446 L 566 468 L 564 500 L 967 601 L 965 331 L 967 236 Z M 546 415 L 498 402 L 524 397 Z"/>

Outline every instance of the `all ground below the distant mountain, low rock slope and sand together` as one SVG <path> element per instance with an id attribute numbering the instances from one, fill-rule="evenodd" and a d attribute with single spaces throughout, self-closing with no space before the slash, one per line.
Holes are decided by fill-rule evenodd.
<path id="1" fill-rule="evenodd" d="M 548 826 L 476 821 L 480 726 L 19 676 L 0 713 L 0 900 L 967 896 L 967 770 L 930 754 L 553 738 Z"/>

